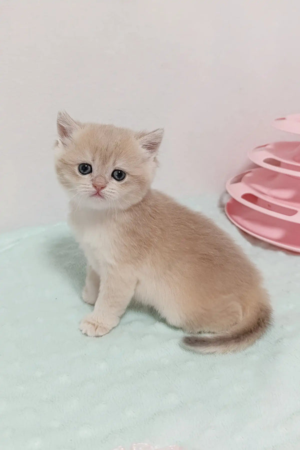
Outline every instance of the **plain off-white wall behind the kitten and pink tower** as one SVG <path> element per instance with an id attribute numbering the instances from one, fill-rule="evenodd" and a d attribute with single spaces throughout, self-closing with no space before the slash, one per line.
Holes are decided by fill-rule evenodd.
<path id="1" fill-rule="evenodd" d="M 53 223 L 56 113 L 165 127 L 155 186 L 224 189 L 300 112 L 299 0 L 1 0 L 0 229 Z M 283 134 L 285 138 L 285 134 Z M 287 140 L 293 136 L 287 135 Z"/>

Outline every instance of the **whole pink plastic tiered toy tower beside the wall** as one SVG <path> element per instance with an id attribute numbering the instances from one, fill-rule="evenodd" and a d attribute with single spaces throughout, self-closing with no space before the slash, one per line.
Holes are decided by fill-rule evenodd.
<path id="1" fill-rule="evenodd" d="M 300 114 L 273 125 L 300 134 Z M 227 181 L 228 218 L 258 239 L 300 253 L 300 141 L 261 145 L 248 157 L 259 167 Z"/>

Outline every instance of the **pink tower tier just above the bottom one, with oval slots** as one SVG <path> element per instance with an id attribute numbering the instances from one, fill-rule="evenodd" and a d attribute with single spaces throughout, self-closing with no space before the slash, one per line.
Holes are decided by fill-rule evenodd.
<path id="1" fill-rule="evenodd" d="M 300 179 L 256 168 L 231 178 L 226 189 L 251 209 L 300 224 Z"/>

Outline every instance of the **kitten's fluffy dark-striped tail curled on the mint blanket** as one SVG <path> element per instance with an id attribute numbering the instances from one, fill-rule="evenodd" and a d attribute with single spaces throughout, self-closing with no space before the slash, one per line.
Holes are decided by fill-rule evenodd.
<path id="1" fill-rule="evenodd" d="M 243 350 L 259 339 L 271 322 L 272 310 L 270 306 L 263 305 L 254 320 L 235 325 L 225 333 L 202 337 L 201 335 L 185 336 L 183 346 L 198 353 L 229 353 Z"/>

